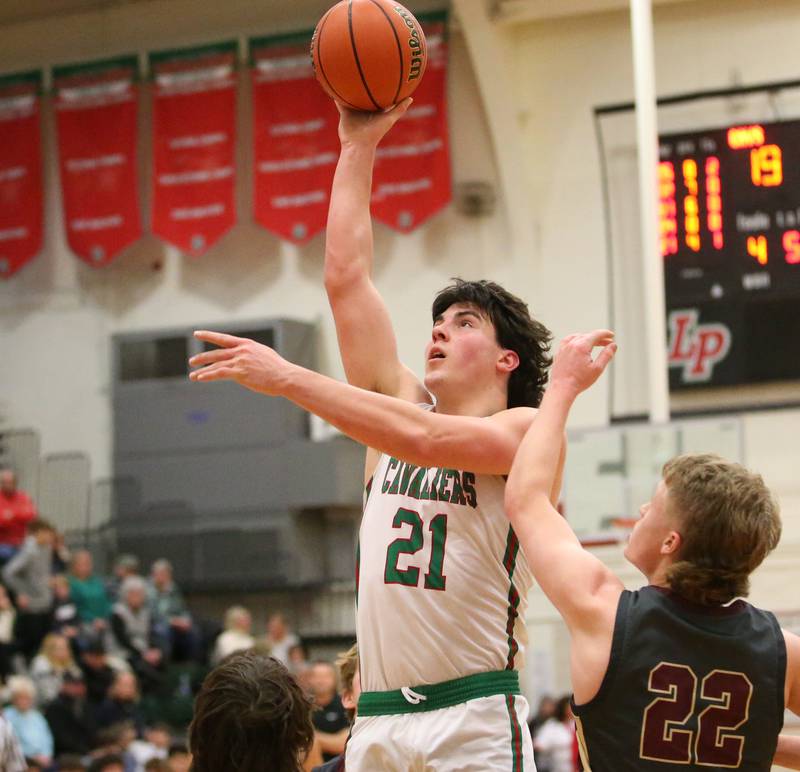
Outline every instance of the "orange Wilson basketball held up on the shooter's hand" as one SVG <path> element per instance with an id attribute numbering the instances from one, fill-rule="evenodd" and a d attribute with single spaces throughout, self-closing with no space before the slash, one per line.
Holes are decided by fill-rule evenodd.
<path id="1" fill-rule="evenodd" d="M 399 3 L 341 0 L 317 24 L 311 58 L 330 97 L 377 112 L 414 93 L 427 47 L 419 22 Z"/>

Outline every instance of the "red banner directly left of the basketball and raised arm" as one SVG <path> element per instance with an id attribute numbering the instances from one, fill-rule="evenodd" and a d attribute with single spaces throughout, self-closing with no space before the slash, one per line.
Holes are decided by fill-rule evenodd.
<path id="1" fill-rule="evenodd" d="M 339 113 L 314 78 L 311 33 L 250 42 L 255 219 L 301 244 L 325 227 Z"/>

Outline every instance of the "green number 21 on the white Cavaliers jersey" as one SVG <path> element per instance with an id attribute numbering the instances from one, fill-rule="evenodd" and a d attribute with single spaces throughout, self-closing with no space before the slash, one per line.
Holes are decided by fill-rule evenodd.
<path id="1" fill-rule="evenodd" d="M 386 550 L 383 581 L 386 584 L 417 587 L 419 568 L 416 566 L 399 568 L 398 561 L 401 555 L 416 555 L 425 544 L 424 524 L 419 512 L 400 507 L 392 520 L 392 528 L 400 529 L 405 525 L 411 526 L 411 534 L 408 537 L 395 539 Z M 447 577 L 443 573 L 444 549 L 447 541 L 447 515 L 444 513 L 436 515 L 428 523 L 428 530 L 431 532 L 431 554 L 424 587 L 426 590 L 444 590 L 447 583 Z"/>

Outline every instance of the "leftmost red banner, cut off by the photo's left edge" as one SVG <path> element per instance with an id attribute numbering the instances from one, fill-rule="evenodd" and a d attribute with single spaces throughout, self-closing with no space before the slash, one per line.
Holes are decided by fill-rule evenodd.
<path id="1" fill-rule="evenodd" d="M 38 72 L 0 79 L 0 277 L 42 247 L 42 150 Z"/>

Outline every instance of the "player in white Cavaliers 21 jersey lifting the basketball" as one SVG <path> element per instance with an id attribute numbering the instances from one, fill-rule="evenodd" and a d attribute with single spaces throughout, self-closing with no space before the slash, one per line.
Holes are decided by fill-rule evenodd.
<path id="1" fill-rule="evenodd" d="M 434 300 L 424 384 L 400 362 L 370 276 L 369 203 L 376 147 L 409 103 L 341 109 L 325 286 L 351 385 L 208 332 L 198 337 L 222 348 L 195 357 L 204 367 L 192 377 L 287 397 L 372 449 L 359 536 L 364 693 L 347 768 L 530 770 L 517 669 L 531 577 L 503 475 L 541 398 L 550 334 L 496 284 L 457 282 Z"/>

